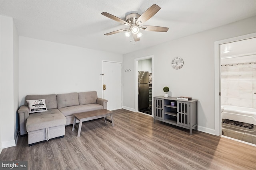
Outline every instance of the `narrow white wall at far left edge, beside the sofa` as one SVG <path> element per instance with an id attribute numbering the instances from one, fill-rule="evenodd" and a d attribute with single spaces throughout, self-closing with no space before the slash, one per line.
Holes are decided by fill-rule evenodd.
<path id="1" fill-rule="evenodd" d="M 18 82 L 17 31 L 10 17 L 0 16 L 0 151 L 15 146 L 16 99 Z M 15 89 L 15 90 L 14 90 Z"/>

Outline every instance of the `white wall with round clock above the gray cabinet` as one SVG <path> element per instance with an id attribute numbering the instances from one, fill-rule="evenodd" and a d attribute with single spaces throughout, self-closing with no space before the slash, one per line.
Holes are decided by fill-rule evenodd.
<path id="1" fill-rule="evenodd" d="M 198 99 L 198 130 L 214 134 L 214 42 L 255 31 L 256 17 L 252 17 L 124 55 L 123 66 L 132 71 L 123 77 L 123 105 L 135 108 L 134 59 L 154 55 L 152 95 L 163 95 L 163 87 L 168 86 L 169 96 Z M 171 66 L 174 57 L 184 60 L 179 70 Z"/>

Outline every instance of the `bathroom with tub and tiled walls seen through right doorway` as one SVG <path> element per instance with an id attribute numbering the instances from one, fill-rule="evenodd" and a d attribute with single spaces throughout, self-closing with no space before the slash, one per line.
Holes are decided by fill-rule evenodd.
<path id="1" fill-rule="evenodd" d="M 256 145 L 256 38 L 220 45 L 221 135 Z"/>

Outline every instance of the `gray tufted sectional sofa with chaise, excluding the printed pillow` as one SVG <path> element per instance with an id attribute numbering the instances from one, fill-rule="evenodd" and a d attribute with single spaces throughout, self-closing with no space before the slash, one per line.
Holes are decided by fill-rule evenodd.
<path id="1" fill-rule="evenodd" d="M 26 100 L 45 99 L 48 111 L 29 113 Z M 27 95 L 18 109 L 20 135 L 28 134 L 28 145 L 64 137 L 65 126 L 73 124 L 74 113 L 107 109 L 107 100 L 98 98 L 96 91 L 66 94 Z"/>

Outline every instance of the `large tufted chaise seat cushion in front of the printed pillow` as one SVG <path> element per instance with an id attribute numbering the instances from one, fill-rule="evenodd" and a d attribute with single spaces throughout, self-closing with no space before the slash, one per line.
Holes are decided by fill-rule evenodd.
<path id="1" fill-rule="evenodd" d="M 30 114 L 26 128 L 27 132 L 66 125 L 66 117 L 58 109 L 48 109 L 46 112 Z"/>

